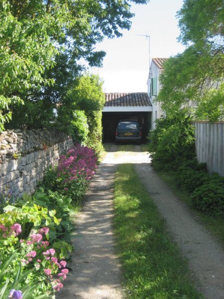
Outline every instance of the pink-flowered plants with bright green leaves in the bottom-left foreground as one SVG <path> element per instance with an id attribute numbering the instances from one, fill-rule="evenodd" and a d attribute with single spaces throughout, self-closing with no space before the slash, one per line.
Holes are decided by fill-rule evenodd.
<path id="1" fill-rule="evenodd" d="M 65 268 L 66 261 L 57 258 L 56 250 L 52 248 L 50 242 L 46 240 L 49 228 L 41 227 L 37 231 L 31 230 L 30 236 L 26 240 L 18 238 L 21 231 L 21 225 L 19 223 L 14 223 L 10 227 L 6 227 L 3 224 L 0 225 L 1 243 L 4 243 L 4 241 L 8 243 L 7 239 L 10 238 L 11 235 L 17 237 L 14 239 L 14 244 L 2 249 L 3 254 L 0 259 L 1 264 L 4 265 L 11 253 L 14 252 L 15 259 L 11 261 L 7 268 L 10 279 L 17 275 L 16 270 L 21 267 L 20 273 L 28 273 L 28 276 L 25 276 L 24 280 L 20 282 L 20 287 L 23 287 L 25 284 L 32 284 L 32 282 L 35 281 L 36 283 L 44 284 L 43 289 L 48 295 L 53 291 L 60 291 L 63 287 L 63 280 L 67 278 L 68 269 Z M 6 281 L 7 277 L 0 280 L 0 288 Z M 8 290 L 6 289 L 6 291 Z M 20 294 L 21 292 L 19 292 L 20 291 L 12 289 L 9 293 L 9 298 L 22 296 Z M 41 294 L 41 292 L 41 290 L 36 290 L 36 292 L 33 290 L 35 296 L 29 298 L 36 298 L 36 296 L 39 295 L 38 293 Z"/>

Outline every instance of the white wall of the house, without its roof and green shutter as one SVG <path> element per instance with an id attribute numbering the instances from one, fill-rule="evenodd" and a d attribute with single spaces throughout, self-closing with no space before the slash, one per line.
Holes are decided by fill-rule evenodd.
<path id="1" fill-rule="evenodd" d="M 148 89 L 148 96 L 150 98 L 150 101 L 152 103 L 152 124 L 151 124 L 151 128 L 152 130 L 155 129 L 155 120 L 159 119 L 162 115 L 162 109 L 161 109 L 161 105 L 160 103 L 156 103 L 155 102 L 155 98 L 156 96 L 152 96 L 150 94 L 150 85 L 151 85 L 151 78 L 156 77 L 157 78 L 157 95 L 159 94 L 161 85 L 160 85 L 160 81 L 159 81 L 159 76 L 162 73 L 163 70 L 160 70 L 153 62 L 151 63 L 150 66 L 150 71 L 149 71 L 149 78 L 147 81 L 147 89 Z"/>

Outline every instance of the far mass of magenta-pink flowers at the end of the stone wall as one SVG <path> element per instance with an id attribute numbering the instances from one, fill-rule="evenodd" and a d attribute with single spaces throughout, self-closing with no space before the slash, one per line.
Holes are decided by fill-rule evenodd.
<path id="1" fill-rule="evenodd" d="M 61 155 L 58 164 L 58 175 L 65 175 L 71 181 L 78 176 L 90 179 L 95 173 L 97 157 L 95 151 L 76 144 L 66 154 Z"/>

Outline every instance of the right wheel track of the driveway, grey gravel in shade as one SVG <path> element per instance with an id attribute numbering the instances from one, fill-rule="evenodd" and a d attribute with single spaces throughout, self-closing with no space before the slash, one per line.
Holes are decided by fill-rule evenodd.
<path id="1" fill-rule="evenodd" d="M 173 239 L 189 260 L 191 271 L 199 279 L 199 291 L 208 299 L 224 299 L 224 251 L 221 246 L 150 165 L 136 164 L 135 169 L 166 219 Z"/>

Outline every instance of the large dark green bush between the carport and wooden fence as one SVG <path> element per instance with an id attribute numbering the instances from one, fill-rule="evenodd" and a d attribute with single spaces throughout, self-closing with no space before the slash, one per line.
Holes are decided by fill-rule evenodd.
<path id="1" fill-rule="evenodd" d="M 152 165 L 156 169 L 176 169 L 185 159 L 195 157 L 194 127 L 184 115 L 157 120 L 149 140 Z"/>

